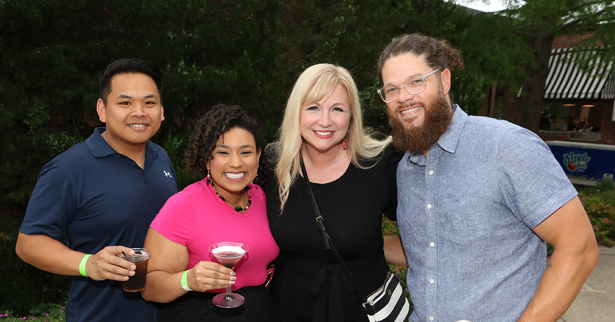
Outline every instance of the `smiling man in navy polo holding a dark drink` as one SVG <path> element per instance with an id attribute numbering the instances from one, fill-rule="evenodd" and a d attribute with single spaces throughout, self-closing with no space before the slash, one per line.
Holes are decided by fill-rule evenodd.
<path id="1" fill-rule="evenodd" d="M 68 322 L 156 321 L 157 308 L 140 292 L 122 291 L 135 265 L 117 255 L 143 247 L 149 223 L 177 193 L 169 156 L 149 142 L 164 120 L 161 87 L 149 63 L 111 63 L 97 102 L 106 128 L 47 163 L 34 187 L 15 250 L 70 276 Z"/>

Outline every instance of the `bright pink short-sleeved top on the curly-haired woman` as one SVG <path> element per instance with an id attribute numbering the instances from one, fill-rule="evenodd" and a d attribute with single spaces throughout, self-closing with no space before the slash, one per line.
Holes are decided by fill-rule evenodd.
<path id="1" fill-rule="evenodd" d="M 248 187 L 252 205 L 245 212 L 237 212 L 216 196 L 205 179 L 192 183 L 167 200 L 150 227 L 188 248 L 188 268 L 201 260 L 218 263 L 209 252 L 212 244 L 246 244 L 249 249 L 235 265 L 237 283 L 232 289 L 261 285 L 267 278 L 268 264 L 276 259 L 280 248 L 269 230 L 263 190 L 258 185 Z"/>

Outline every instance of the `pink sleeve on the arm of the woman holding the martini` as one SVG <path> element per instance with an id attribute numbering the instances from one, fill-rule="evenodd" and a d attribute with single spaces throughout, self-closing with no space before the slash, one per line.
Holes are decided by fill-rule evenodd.
<path id="1" fill-rule="evenodd" d="M 167 200 L 149 227 L 175 243 L 188 246 L 194 239 L 196 211 L 192 200 L 177 193 Z"/>

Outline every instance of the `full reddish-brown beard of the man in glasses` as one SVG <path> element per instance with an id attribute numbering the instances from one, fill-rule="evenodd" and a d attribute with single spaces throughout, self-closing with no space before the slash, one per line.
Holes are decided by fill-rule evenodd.
<path id="1" fill-rule="evenodd" d="M 406 127 L 399 119 L 399 111 L 407 108 L 407 105 L 398 107 L 395 114 L 391 111 L 389 115 L 389 125 L 391 125 L 393 145 L 401 151 L 410 153 L 422 153 L 438 142 L 438 139 L 445 134 L 451 124 L 453 111 L 445 99 L 442 85 L 432 102 L 423 104 L 424 119 L 420 126 Z"/>

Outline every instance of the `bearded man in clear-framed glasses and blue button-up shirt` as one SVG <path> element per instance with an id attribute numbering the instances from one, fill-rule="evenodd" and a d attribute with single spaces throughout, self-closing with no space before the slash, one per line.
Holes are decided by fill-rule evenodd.
<path id="1" fill-rule="evenodd" d="M 389 249 L 387 262 L 407 258 L 411 322 L 555 322 L 598 260 L 592 226 L 538 135 L 451 104 L 451 69 L 462 67 L 458 50 L 422 34 L 398 36 L 379 58 L 378 93 L 406 152 L 407 257 Z"/>

